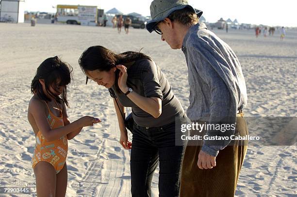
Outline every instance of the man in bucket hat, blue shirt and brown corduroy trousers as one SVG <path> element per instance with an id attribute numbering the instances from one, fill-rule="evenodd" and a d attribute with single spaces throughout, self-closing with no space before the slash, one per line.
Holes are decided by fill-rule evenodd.
<path id="1" fill-rule="evenodd" d="M 147 30 L 160 34 L 162 41 L 185 55 L 190 85 L 188 118 L 192 123 L 220 126 L 204 128 L 202 136 L 225 137 L 188 141 L 180 195 L 232 197 L 247 153 L 247 140 L 231 140 L 232 135 L 248 135 L 243 117 L 247 90 L 241 65 L 231 47 L 199 23 L 202 11 L 187 0 L 153 0 L 150 13 Z M 223 131 L 220 128 L 226 123 L 231 127 Z M 193 133 L 192 129 L 191 136 Z"/>

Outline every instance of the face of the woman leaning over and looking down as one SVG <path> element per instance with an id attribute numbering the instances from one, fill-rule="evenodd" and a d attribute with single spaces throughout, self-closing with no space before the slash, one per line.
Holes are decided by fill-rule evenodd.
<path id="1" fill-rule="evenodd" d="M 109 71 L 86 70 L 85 74 L 98 85 L 104 86 L 105 88 L 111 88 L 115 84 L 115 71 L 116 68 L 112 68 Z"/>

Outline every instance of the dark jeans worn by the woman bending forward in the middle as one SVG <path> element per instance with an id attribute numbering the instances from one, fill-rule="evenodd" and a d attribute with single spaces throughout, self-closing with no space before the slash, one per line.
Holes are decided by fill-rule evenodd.
<path id="1" fill-rule="evenodd" d="M 186 117 L 179 118 L 186 124 Z M 180 123 L 177 123 L 180 130 Z M 176 123 L 161 127 L 141 127 L 134 123 L 131 150 L 132 197 L 150 197 L 153 173 L 160 163 L 159 196 L 178 197 L 180 192 L 181 164 L 186 142 L 175 145 Z"/>

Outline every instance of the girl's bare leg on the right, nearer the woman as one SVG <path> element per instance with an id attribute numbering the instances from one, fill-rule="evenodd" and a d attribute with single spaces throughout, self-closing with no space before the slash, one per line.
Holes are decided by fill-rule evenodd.
<path id="1" fill-rule="evenodd" d="M 66 162 L 57 174 L 56 197 L 65 197 L 67 189 L 67 165 Z"/>

